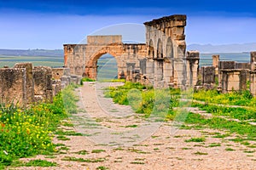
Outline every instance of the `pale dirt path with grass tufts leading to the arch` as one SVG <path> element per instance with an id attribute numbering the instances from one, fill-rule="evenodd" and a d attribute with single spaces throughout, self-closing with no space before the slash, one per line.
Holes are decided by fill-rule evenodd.
<path id="1" fill-rule="evenodd" d="M 63 149 L 52 158 L 23 160 L 40 158 L 58 163 L 58 167 L 36 169 L 255 169 L 255 148 L 230 141 L 232 136 L 213 138 L 225 132 L 212 129 L 179 129 L 171 134 L 171 122 L 144 120 L 129 106 L 115 105 L 112 99 L 104 98 L 102 88 L 107 86 L 110 84 L 85 82 L 77 90 L 80 112 L 71 117 L 75 127 L 63 128 L 84 136 L 55 139 L 69 150 Z M 185 142 L 202 137 L 205 142 Z"/>

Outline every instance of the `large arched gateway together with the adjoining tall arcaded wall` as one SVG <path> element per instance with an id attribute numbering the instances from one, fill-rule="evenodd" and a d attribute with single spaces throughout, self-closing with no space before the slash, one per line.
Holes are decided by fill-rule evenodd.
<path id="1" fill-rule="evenodd" d="M 133 73 L 139 72 L 156 87 L 184 88 L 188 84 L 186 15 L 166 16 L 144 25 L 146 44 L 123 43 L 119 35 L 89 36 L 87 44 L 64 44 L 65 67 L 72 75 L 96 79 L 97 59 L 111 54 L 117 61 L 118 78 L 133 80 Z"/>

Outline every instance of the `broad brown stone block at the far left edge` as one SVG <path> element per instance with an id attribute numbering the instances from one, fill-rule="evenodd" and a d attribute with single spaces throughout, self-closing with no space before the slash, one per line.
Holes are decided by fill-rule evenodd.
<path id="1" fill-rule="evenodd" d="M 26 105 L 26 69 L 3 68 L 0 69 L 0 77 L 1 102 Z"/>

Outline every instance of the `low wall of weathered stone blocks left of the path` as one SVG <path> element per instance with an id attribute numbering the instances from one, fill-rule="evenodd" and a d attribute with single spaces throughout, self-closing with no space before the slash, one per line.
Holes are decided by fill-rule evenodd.
<path id="1" fill-rule="evenodd" d="M 81 78 L 71 76 L 67 68 L 33 67 L 32 63 L 18 63 L 14 68 L 1 68 L 0 102 L 6 104 L 14 102 L 21 106 L 38 101 L 51 102 L 53 96 L 62 88 L 70 83 L 79 84 Z"/>

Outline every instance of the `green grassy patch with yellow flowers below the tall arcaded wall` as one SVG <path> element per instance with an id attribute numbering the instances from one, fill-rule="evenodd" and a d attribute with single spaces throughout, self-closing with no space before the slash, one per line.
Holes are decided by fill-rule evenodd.
<path id="1" fill-rule="evenodd" d="M 162 122 L 167 115 L 174 118 L 172 107 L 179 105 L 180 93 L 179 89 L 153 89 L 138 82 L 125 82 L 124 86 L 108 88 L 105 97 L 113 98 L 119 105 L 131 105 L 133 111 L 145 117 L 160 117 Z"/>

